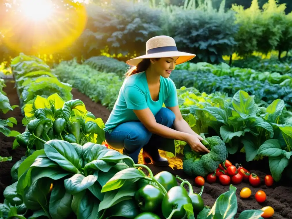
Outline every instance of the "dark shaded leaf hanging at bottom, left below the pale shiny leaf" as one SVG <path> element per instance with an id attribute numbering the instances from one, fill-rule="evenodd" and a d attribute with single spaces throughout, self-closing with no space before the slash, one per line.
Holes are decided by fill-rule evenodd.
<path id="1" fill-rule="evenodd" d="M 49 202 L 49 212 L 52 219 L 68 218 L 72 212 L 73 196 L 64 188 L 62 181 L 54 183 Z"/>

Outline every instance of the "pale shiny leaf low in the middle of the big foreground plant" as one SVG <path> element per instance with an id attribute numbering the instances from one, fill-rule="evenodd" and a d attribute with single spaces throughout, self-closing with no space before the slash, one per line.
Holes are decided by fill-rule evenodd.
<path id="1" fill-rule="evenodd" d="M 97 180 L 97 176 L 76 173 L 71 178 L 64 180 L 65 189 L 69 194 L 75 195 L 91 187 Z"/>

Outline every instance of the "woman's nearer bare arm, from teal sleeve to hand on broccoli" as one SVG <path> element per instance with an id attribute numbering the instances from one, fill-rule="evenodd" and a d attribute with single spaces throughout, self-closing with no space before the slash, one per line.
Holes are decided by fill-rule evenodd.
<path id="1" fill-rule="evenodd" d="M 190 144 L 194 151 L 210 152 L 200 141 L 199 137 L 192 133 L 186 133 L 156 122 L 156 119 L 149 108 L 141 110 L 133 110 L 141 123 L 153 134 L 157 134 L 164 138 L 185 141 Z M 189 126 L 187 124 L 187 126 Z"/>

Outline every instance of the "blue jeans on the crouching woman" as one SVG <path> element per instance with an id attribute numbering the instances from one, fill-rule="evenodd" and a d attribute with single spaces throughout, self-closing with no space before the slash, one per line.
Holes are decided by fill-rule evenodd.
<path id="1" fill-rule="evenodd" d="M 156 122 L 173 128 L 175 114 L 162 107 L 155 116 Z M 138 155 L 143 150 L 174 151 L 174 140 L 152 134 L 140 121 L 129 121 L 113 128 L 111 133 L 105 132 L 105 140 L 116 150 L 123 149 L 135 163 L 138 163 Z M 175 153 L 175 152 L 174 152 Z"/>

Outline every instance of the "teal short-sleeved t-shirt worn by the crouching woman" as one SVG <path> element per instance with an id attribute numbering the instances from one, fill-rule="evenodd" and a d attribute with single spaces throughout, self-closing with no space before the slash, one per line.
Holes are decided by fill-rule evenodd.
<path id="1" fill-rule="evenodd" d="M 127 77 L 119 91 L 118 99 L 105 123 L 105 131 L 111 130 L 128 121 L 139 121 L 133 109 L 146 109 L 149 107 L 153 115 L 162 108 L 178 105 L 176 87 L 170 78 L 160 76 L 160 91 L 157 101 L 153 101 L 148 88 L 145 72 Z"/>

